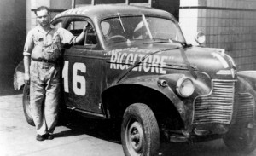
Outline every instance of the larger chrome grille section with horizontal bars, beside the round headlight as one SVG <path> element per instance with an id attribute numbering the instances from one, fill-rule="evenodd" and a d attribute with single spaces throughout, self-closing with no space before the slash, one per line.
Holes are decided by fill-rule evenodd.
<path id="1" fill-rule="evenodd" d="M 234 94 L 234 80 L 212 80 L 211 93 L 195 98 L 192 124 L 230 124 Z"/>

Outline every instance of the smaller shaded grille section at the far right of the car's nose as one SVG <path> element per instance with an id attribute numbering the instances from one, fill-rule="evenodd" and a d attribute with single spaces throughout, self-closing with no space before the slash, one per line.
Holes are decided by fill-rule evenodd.
<path id="1" fill-rule="evenodd" d="M 254 98 L 250 93 L 236 94 L 236 119 L 253 118 L 254 116 Z"/>

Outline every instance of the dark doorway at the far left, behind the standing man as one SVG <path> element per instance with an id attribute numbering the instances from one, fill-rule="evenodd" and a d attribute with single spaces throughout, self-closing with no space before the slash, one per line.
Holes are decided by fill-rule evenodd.
<path id="1" fill-rule="evenodd" d="M 0 34 L 0 95 L 9 95 L 14 92 L 15 66 L 23 59 L 26 0 L 1 0 Z"/>

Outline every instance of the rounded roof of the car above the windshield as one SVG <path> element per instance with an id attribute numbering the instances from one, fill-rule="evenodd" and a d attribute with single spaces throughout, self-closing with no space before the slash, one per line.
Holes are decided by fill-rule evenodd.
<path id="1" fill-rule="evenodd" d="M 99 5 L 88 5 L 84 7 L 79 7 L 75 9 L 68 9 L 67 11 L 62 12 L 61 14 L 57 14 L 55 19 L 65 17 L 65 16 L 87 16 L 90 19 L 105 19 L 108 17 L 112 17 L 115 14 L 119 13 L 121 16 L 125 15 L 153 15 L 160 16 L 167 19 L 172 19 L 172 14 L 160 10 L 153 9 L 147 7 L 137 7 L 125 4 L 99 4 Z"/>

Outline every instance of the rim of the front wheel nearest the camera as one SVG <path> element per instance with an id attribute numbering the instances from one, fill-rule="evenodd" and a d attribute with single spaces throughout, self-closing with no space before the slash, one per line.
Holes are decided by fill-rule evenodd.
<path id="1" fill-rule="evenodd" d="M 143 152 L 143 126 L 137 120 L 130 120 L 125 130 L 125 142 L 131 155 L 141 155 Z"/>

